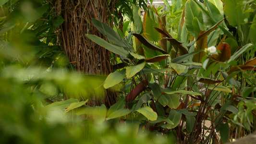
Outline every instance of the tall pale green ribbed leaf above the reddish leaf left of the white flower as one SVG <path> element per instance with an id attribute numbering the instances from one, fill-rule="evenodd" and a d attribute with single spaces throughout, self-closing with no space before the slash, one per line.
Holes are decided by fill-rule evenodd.
<path id="1" fill-rule="evenodd" d="M 196 3 L 193 0 L 188 0 L 185 4 L 185 24 L 187 30 L 192 36 L 195 36 L 193 19 L 197 17 L 198 21 L 201 24 L 204 24 L 203 15 L 199 7 L 197 7 Z"/>

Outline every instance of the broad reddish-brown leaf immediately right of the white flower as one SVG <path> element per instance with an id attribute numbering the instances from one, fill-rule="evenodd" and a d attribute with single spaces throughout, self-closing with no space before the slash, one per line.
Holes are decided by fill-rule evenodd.
<path id="1" fill-rule="evenodd" d="M 228 43 L 222 43 L 217 47 L 217 50 L 219 50 L 221 53 L 219 53 L 219 55 L 212 55 L 213 58 L 221 61 L 221 62 L 225 62 L 227 60 L 230 59 L 231 57 L 231 48 L 230 45 Z"/>

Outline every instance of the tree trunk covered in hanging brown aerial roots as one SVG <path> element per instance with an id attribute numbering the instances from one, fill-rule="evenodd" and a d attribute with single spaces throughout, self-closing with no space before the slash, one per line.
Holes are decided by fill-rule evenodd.
<path id="1" fill-rule="evenodd" d="M 107 0 L 108 2 L 108 0 Z M 112 2 L 114 4 L 114 0 Z M 113 72 L 110 62 L 110 51 L 95 44 L 85 34 L 99 36 L 105 40 L 92 19 L 97 19 L 105 24 L 109 22 L 108 5 L 105 0 L 56 0 L 55 9 L 65 20 L 61 25 L 62 48 L 67 53 L 74 68 L 83 74 L 108 75 Z M 114 6 L 110 10 L 114 10 Z M 113 13 L 113 12 L 111 12 Z M 117 94 L 106 90 L 105 98 L 90 99 L 90 106 L 99 106 L 102 103 L 110 107 L 117 101 Z"/>

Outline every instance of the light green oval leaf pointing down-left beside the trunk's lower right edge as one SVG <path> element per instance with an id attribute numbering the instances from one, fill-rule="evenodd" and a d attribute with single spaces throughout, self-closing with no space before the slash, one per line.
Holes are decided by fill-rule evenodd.
<path id="1" fill-rule="evenodd" d="M 107 89 L 122 82 L 123 78 L 125 78 L 125 73 L 125 69 L 110 73 L 104 82 L 104 88 Z"/>

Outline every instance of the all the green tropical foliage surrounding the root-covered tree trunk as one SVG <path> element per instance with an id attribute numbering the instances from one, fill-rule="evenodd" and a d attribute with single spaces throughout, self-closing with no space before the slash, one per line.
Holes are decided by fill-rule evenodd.
<path id="1" fill-rule="evenodd" d="M 92 19 L 108 41 L 86 34 L 111 52 L 108 76 L 75 72 L 50 1 L 0 2 L 3 142 L 219 144 L 255 132 L 254 0 L 128 1 L 109 11 L 113 26 Z M 89 107 L 105 89 L 118 101 Z"/>

